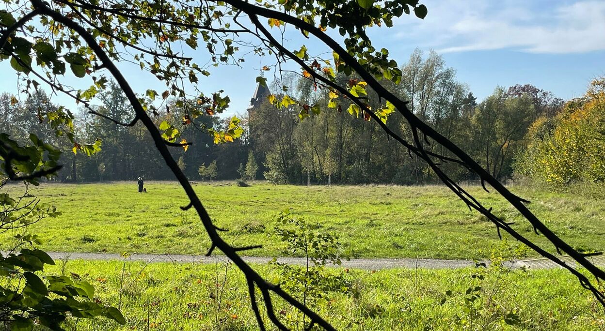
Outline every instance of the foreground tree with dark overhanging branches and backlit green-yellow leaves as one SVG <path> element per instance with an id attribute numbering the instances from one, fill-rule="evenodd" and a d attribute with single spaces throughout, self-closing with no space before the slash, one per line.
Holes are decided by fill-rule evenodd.
<path id="1" fill-rule="evenodd" d="M 463 190 L 448 175 L 447 169 L 440 167 L 440 164 L 442 162 L 458 164 L 459 167 L 473 172 L 482 182 L 491 185 L 493 190 L 517 209 L 537 232 L 543 234 L 555 247 L 569 254 L 572 259 L 586 268 L 587 273 L 594 275 L 597 279 L 603 279 L 605 271 L 597 268 L 586 259 L 584 254 L 560 239 L 526 207 L 524 199 L 511 193 L 468 153 L 427 123 L 427 118 L 431 115 L 425 103 L 428 99 L 424 99 L 425 101 L 421 103 L 411 102 L 412 106 L 416 104 L 420 106 L 419 109 L 410 109 L 408 103 L 402 100 L 403 98 L 397 97 L 388 88 L 388 84 L 383 83 L 387 80 L 399 83 L 402 79 L 401 69 L 397 68 L 396 61 L 388 57 L 388 50 L 378 51 L 373 47 L 367 34 L 367 28 L 376 25 L 391 26 L 396 21 L 395 19 L 404 13 L 414 13 L 419 18 L 425 18 L 427 15 L 425 5 L 418 4 L 417 1 L 382 3 L 344 0 L 301 2 L 295 0 L 277 4 L 261 1 L 257 4 L 244 0 L 225 0 L 221 2 L 203 1 L 201 4 L 156 2 L 142 8 L 142 4 L 132 0 L 122 0 L 119 4 L 105 0 L 97 1 L 94 4 L 65 0 L 51 0 L 51 2 L 52 5 L 47 5 L 41 0 L 31 0 L 31 7 L 29 7 L 23 6 L 16 0 L 9 0 L 8 11 L 2 11 L 0 16 L 2 25 L 6 27 L 0 37 L 1 59 L 9 60 L 15 71 L 35 76 L 36 84 L 31 83 L 31 85 L 39 85 L 44 82 L 51 85 L 56 91 L 64 92 L 79 100 L 80 103 L 89 106 L 89 101 L 96 97 L 99 89 L 105 89 L 107 82 L 105 74 L 110 74 L 116 79 L 134 110 L 134 117 L 128 123 L 113 118 L 106 119 L 122 126 L 134 126 L 137 123 L 145 126 L 155 148 L 190 199 L 190 203 L 182 208 L 185 210 L 194 208 L 200 216 L 211 239 L 208 255 L 212 254 L 214 249 L 220 249 L 246 275 L 250 290 L 250 303 L 261 329 L 265 329 L 265 320 L 260 313 L 255 297 L 257 289 L 263 295 L 263 302 L 268 310 L 267 318 L 280 329 L 285 329 L 285 327 L 273 311 L 272 294 L 283 298 L 295 309 L 309 317 L 309 325 L 305 326 L 306 329 L 322 327 L 326 330 L 333 330 L 334 328 L 283 289 L 268 283 L 241 259 L 238 252 L 259 246 L 234 247 L 220 236 L 185 173 L 178 168 L 177 161 L 171 155 L 169 147 L 185 150 L 191 146 L 190 141 L 181 137 L 181 130 L 177 126 L 188 123 L 185 124 L 187 126 L 191 124 L 189 123 L 192 122 L 191 118 L 205 116 L 204 113 L 212 116 L 222 112 L 228 106 L 229 98 L 221 95 L 222 92 L 204 95 L 201 91 L 195 91 L 189 102 L 193 99 L 195 104 L 207 105 L 206 109 L 187 108 L 189 114 L 185 115 L 188 117 L 183 116 L 183 118 L 178 118 L 178 121 L 165 120 L 159 123 L 159 126 L 149 117 L 154 114 L 154 111 L 157 112 L 152 102 L 155 98 L 160 96 L 168 98 L 169 95 L 172 95 L 178 97 L 177 103 L 180 102 L 180 105 L 185 106 L 185 103 L 188 102 L 187 94 L 184 88 L 179 87 L 184 85 L 182 80 L 189 79 L 189 82 L 197 88 L 198 76 L 211 74 L 203 69 L 211 66 L 200 66 L 195 63 L 197 61 L 186 57 L 186 54 L 175 53 L 173 50 L 180 49 L 174 47 L 175 43 L 185 42 L 189 48 L 195 50 L 198 48 L 198 41 L 203 40 L 205 43 L 203 46 L 209 54 L 202 63 L 208 62 L 208 65 L 240 64 L 243 62 L 242 54 L 247 53 L 279 54 L 276 56 L 275 65 L 272 65 L 277 70 L 283 68 L 283 65 L 286 64 L 284 62 L 296 63 L 300 68 L 298 73 L 302 77 L 312 80 L 313 86 L 333 91 L 334 95 L 330 97 L 328 104 L 329 109 L 346 110 L 348 114 L 359 118 L 359 121 L 374 121 L 387 133 L 388 137 L 393 138 L 410 154 L 416 155 L 417 159 L 428 164 L 428 169 L 433 171 L 434 176 L 451 188 L 453 193 L 462 199 L 469 208 L 478 211 L 494 223 L 497 230 L 505 231 L 539 254 L 566 268 L 605 306 L 605 294 L 598 291 L 594 282 L 590 281 L 586 275 L 563 263 L 558 257 L 518 233 L 509 223 L 492 213 L 491 208 L 486 208 L 466 190 Z M 29 24 L 29 21 L 37 16 L 42 16 L 42 19 L 39 20 L 39 24 L 36 23 L 36 27 L 21 29 L 23 25 Z M 249 22 L 241 22 L 244 19 Z M 233 24 L 234 22 L 238 24 Z M 275 31 L 279 30 L 278 34 L 282 36 L 284 31 L 281 29 L 290 29 L 290 27 L 296 28 L 304 36 L 318 40 L 325 47 L 329 47 L 333 51 L 333 59 L 329 61 L 330 65 L 323 62 L 322 59 L 314 57 L 313 52 L 307 52 L 308 49 L 305 45 L 300 45 L 300 48 L 297 47 L 298 50 L 293 52 L 276 39 Z M 274 28 L 273 33 L 270 31 L 271 28 Z M 333 39 L 331 33 L 325 33 L 328 28 L 338 28 L 344 37 L 342 44 Z M 34 37 L 30 34 L 33 34 Z M 50 34 L 54 36 L 53 39 L 45 38 Z M 243 36 L 244 34 L 245 36 Z M 248 38 L 253 41 L 249 41 Z M 147 48 L 142 44 L 131 43 L 131 40 L 137 39 L 149 40 L 152 45 Z M 53 42 L 53 45 L 50 42 Z M 118 43 L 120 45 L 117 45 Z M 246 48 L 246 45 L 250 45 L 250 43 L 252 43 L 250 48 L 252 52 L 247 49 L 240 50 L 240 47 Z M 126 51 L 122 51 L 123 48 Z M 185 50 L 186 47 L 182 49 Z M 128 53 L 130 50 L 140 53 L 131 55 Z M 33 57 L 36 58 L 35 62 Z M 166 91 L 158 93 L 148 90 L 145 92 L 145 98 L 137 95 L 128 79 L 123 76 L 114 63 L 123 60 L 123 57 L 139 63 L 143 70 L 148 70 L 154 77 L 165 82 Z M 327 66 L 322 66 L 320 61 Z M 65 74 L 66 63 L 70 66 L 70 71 L 74 76 L 91 77 L 94 84 L 88 88 L 83 86 L 79 91 L 65 89 L 64 85 L 60 83 L 60 76 Z M 434 63 L 434 68 L 439 68 L 438 62 Z M 434 72 L 432 64 L 427 67 L 426 72 Z M 341 84 L 342 81 L 339 80 L 337 74 L 348 79 L 348 82 L 345 80 L 347 83 Z M 52 77 L 52 79 L 48 80 L 44 77 Z M 257 77 L 257 81 L 266 84 L 263 76 Z M 426 82 L 423 81 L 425 84 L 423 86 L 430 88 L 426 91 L 432 91 L 431 86 L 434 86 L 434 83 L 434 80 L 426 80 Z M 24 84 L 27 85 L 27 81 Z M 371 107 L 365 101 L 365 95 L 370 89 L 379 97 L 378 107 Z M 284 92 L 288 90 L 288 86 L 282 89 Z M 28 90 L 25 89 L 25 91 Z M 299 109 L 301 120 L 309 118 L 310 113 L 321 114 L 321 107 L 318 107 L 317 104 L 306 104 L 304 100 L 298 101 L 287 94 L 270 95 L 268 101 L 280 109 L 296 107 Z M 408 136 L 402 136 L 387 126 L 388 115 L 394 112 L 401 114 L 402 121 L 408 127 L 407 132 L 410 133 Z M 99 115 L 102 117 L 102 114 Z M 70 116 L 67 111 L 52 112 L 52 117 L 62 117 L 65 122 L 73 119 L 73 115 Z M 229 125 L 224 128 L 206 127 L 202 129 L 213 137 L 215 143 L 234 141 L 243 132 L 238 118 L 232 118 Z M 370 126 L 368 129 L 370 129 L 369 135 L 373 135 L 374 127 Z M 74 137 L 70 138 L 77 143 Z M 364 141 L 364 143 L 371 147 L 369 141 Z M 76 146 L 76 150 L 80 150 L 82 148 L 80 146 Z M 439 152 L 440 147 L 437 148 L 438 146 L 443 148 L 444 153 Z M 5 149 L 4 154 L 13 155 L 11 149 Z M 371 159 L 371 153 L 368 155 Z M 368 158 L 365 159 L 365 164 L 368 163 L 367 160 Z M 12 173 L 9 175 L 11 178 L 16 178 L 12 176 Z"/>

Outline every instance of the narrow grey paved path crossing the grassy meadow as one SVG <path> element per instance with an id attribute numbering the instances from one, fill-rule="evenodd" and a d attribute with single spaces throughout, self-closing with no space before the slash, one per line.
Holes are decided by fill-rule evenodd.
<path id="1" fill-rule="evenodd" d="M 4 252 L 2 252 L 4 254 Z M 53 259 L 83 259 L 83 260 L 123 260 L 120 254 L 104 254 L 104 253 L 80 253 L 80 252 L 48 252 Z M 145 262 L 198 262 L 198 263 L 215 263 L 225 261 L 223 255 L 215 255 L 206 257 L 204 255 L 171 255 L 171 254 L 132 254 L 128 257 L 132 261 Z M 243 257 L 248 263 L 265 264 L 272 260 L 271 257 Z M 566 263 L 575 265 L 569 257 L 561 257 Z M 598 266 L 605 267 L 605 255 L 589 257 Z M 293 265 L 304 265 L 306 260 L 301 257 L 280 257 L 278 262 L 289 263 Z M 482 261 L 489 264 L 487 261 Z M 352 269 L 391 269 L 391 268 L 428 268 L 428 269 L 455 269 L 474 266 L 475 262 L 468 260 L 437 260 L 437 259 L 354 259 L 350 261 L 342 260 L 341 268 Z M 531 259 L 508 262 L 507 266 L 511 268 L 527 268 L 527 269 L 550 269 L 561 268 L 554 262 L 548 259 Z"/>

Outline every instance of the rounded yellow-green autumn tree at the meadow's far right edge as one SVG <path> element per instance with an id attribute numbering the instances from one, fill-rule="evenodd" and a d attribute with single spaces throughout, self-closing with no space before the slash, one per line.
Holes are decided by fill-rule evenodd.
<path id="1" fill-rule="evenodd" d="M 605 182 L 605 92 L 595 79 L 584 97 L 567 102 L 555 118 L 531 125 L 528 148 L 518 153 L 515 172 L 556 186 Z"/>

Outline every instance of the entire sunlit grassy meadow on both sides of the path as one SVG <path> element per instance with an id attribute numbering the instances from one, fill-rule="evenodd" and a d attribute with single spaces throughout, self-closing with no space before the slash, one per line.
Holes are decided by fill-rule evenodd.
<path id="1" fill-rule="evenodd" d="M 174 182 L 149 182 L 146 187 L 148 193 L 139 194 L 135 183 L 43 184 L 30 194 L 56 205 L 62 215 L 22 231 L 42 237 L 41 248 L 47 251 L 204 254 L 209 241 L 196 214 L 178 208 L 188 203 L 181 188 Z M 194 187 L 215 223 L 230 230 L 222 233 L 229 242 L 264 245 L 250 255 L 289 255 L 274 227 L 280 211 L 290 208 L 296 216 L 338 233 L 362 257 L 534 256 L 515 249 L 512 240 L 500 241 L 491 223 L 439 186 L 237 187 L 215 182 Z M 16 193 L 21 188 L 7 189 Z M 546 243 L 496 194 L 480 187 L 469 190 L 509 222 L 517 221 L 518 231 Z M 605 249 L 605 201 L 513 190 L 533 201 L 531 210 L 576 248 Z M 11 246 L 14 234 L 2 234 L 4 248 Z M 258 330 L 243 275 L 220 256 L 216 259 L 204 265 L 67 257 L 44 272 L 90 282 L 94 297 L 119 307 L 128 321 L 119 326 L 102 318 L 70 319 L 67 330 Z M 283 280 L 276 266 L 253 267 L 273 283 Z M 310 304 L 339 330 L 605 330 L 602 307 L 577 278 L 560 269 L 328 272 L 344 277 L 338 285 L 344 287 L 325 291 L 324 298 Z M 282 321 L 302 330 L 301 316 L 292 307 L 280 300 L 274 305 Z"/>

